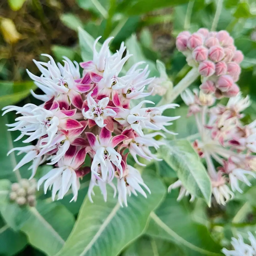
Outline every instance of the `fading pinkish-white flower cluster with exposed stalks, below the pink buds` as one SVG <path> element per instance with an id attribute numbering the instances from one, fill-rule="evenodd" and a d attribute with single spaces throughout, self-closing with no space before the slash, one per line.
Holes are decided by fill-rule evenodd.
<path id="1" fill-rule="evenodd" d="M 218 204 L 225 205 L 234 197 L 233 192 L 243 192 L 239 182 L 250 186 L 249 176 L 256 178 L 256 120 L 247 125 L 240 121 L 244 116 L 241 112 L 250 105 L 249 97 L 242 98 L 239 93 L 226 106 L 212 106 L 214 96 L 202 91 L 186 90 L 181 96 L 189 106 L 189 115 L 194 115 L 200 134 L 193 147 L 205 159 L 213 196 Z M 219 167 L 215 168 L 215 163 Z M 181 187 L 181 197 L 188 195 L 180 181 L 169 189 L 176 187 Z"/>

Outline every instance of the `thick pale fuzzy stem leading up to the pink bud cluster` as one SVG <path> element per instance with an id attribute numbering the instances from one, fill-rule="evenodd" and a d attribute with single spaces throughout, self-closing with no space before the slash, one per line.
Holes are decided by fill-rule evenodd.
<path id="1" fill-rule="evenodd" d="M 184 90 L 186 90 L 191 83 L 193 83 L 199 76 L 197 68 L 191 69 L 186 76 L 178 82 L 178 84 L 173 88 L 172 95 L 169 99 L 163 97 L 157 104 L 157 106 L 162 106 L 164 104 L 172 103 Z"/>

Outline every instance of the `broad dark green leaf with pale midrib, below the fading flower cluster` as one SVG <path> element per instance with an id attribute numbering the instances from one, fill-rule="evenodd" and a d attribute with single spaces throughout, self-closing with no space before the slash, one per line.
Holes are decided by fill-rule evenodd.
<path id="1" fill-rule="evenodd" d="M 221 246 L 211 238 L 207 228 L 195 223 L 188 209 L 177 202 L 177 192 L 168 194 L 161 206 L 151 213 L 146 234 L 176 243 L 185 255 L 222 255 Z"/>

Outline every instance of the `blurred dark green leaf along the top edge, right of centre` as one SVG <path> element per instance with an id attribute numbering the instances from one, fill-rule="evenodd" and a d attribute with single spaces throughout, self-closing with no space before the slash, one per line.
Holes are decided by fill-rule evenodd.
<path id="1" fill-rule="evenodd" d="M 122 0 L 117 6 L 117 10 L 128 15 L 139 15 L 167 6 L 184 4 L 188 1 L 189 0 Z"/>

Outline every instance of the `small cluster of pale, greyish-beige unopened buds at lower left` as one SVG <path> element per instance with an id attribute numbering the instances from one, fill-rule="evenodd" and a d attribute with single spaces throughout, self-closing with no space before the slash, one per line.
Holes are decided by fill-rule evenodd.
<path id="1" fill-rule="evenodd" d="M 9 198 L 15 201 L 19 206 L 36 205 L 36 180 L 21 179 L 19 183 L 12 184 Z"/>

